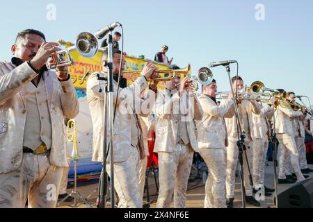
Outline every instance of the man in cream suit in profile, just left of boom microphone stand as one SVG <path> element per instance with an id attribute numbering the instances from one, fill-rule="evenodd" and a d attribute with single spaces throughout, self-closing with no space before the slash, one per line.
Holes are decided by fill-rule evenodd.
<path id="1" fill-rule="evenodd" d="M 226 208 L 226 146 L 227 130 L 224 117 L 234 115 L 234 101 L 230 92 L 223 105 L 216 103 L 216 80 L 202 86 L 198 97 L 203 110 L 203 117 L 197 123 L 198 149 L 209 169 L 205 184 L 205 208 Z"/>

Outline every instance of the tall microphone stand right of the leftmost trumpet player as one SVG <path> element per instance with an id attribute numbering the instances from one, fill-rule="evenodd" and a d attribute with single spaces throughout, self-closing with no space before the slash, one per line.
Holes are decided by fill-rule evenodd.
<path id="1" fill-rule="evenodd" d="M 106 172 L 106 159 L 107 159 L 107 151 L 110 151 L 110 187 L 111 187 L 111 208 L 114 208 L 114 156 L 113 156 L 113 53 L 112 53 L 112 33 L 109 32 L 109 37 L 107 38 L 108 44 L 108 76 L 100 77 L 97 74 L 98 80 L 106 81 L 106 89 L 104 92 L 104 143 L 103 143 L 103 160 L 102 160 L 102 171 L 99 181 L 99 208 L 105 208 L 106 203 L 106 191 L 107 191 L 107 179 L 108 174 Z M 102 92 L 102 89 L 99 85 L 99 92 Z M 109 111 L 106 108 L 106 102 L 109 102 Z M 106 117 L 109 113 L 109 121 L 106 123 Z M 107 126 L 106 126 L 107 124 Z M 106 137 L 107 128 L 109 128 L 109 143 Z M 109 144 L 109 146 L 108 146 Z"/>

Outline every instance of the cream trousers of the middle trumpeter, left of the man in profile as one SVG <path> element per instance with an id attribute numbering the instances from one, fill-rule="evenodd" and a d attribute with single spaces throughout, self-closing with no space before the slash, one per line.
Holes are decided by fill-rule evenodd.
<path id="1" fill-rule="evenodd" d="M 186 207 L 188 178 L 193 150 L 177 144 L 173 153 L 159 152 L 159 196 L 157 208 L 169 208 L 174 195 L 175 208 Z"/>

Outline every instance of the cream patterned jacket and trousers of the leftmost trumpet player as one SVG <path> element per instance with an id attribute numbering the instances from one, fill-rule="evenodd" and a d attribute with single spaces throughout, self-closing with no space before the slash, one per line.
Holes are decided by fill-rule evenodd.
<path id="1" fill-rule="evenodd" d="M 33 87 L 36 76 L 27 62 L 18 67 L 0 62 L 0 207 L 25 207 L 27 198 L 29 207 L 56 207 L 63 168 L 68 167 L 64 117 L 76 117 L 79 103 L 72 80 L 60 82 L 53 71 L 45 71 L 40 80 L 51 121 L 49 155 L 23 153 L 26 88 Z"/>

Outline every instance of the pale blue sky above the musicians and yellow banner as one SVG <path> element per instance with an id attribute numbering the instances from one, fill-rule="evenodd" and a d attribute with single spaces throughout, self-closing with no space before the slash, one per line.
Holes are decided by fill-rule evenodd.
<path id="1" fill-rule="evenodd" d="M 31 3 L 30 3 L 31 2 Z M 47 20 L 47 5 L 56 6 L 56 20 Z M 257 3 L 265 7 L 265 20 L 257 21 Z M 284 88 L 310 96 L 313 101 L 313 1 L 1 1 L 0 60 L 10 60 L 17 32 L 36 28 L 48 41 L 74 42 L 78 33 L 120 22 L 125 51 L 153 58 L 163 44 L 168 57 L 193 74 L 218 60 L 237 60 L 239 74 L 250 85 Z M 232 66 L 232 74 L 236 67 Z M 224 67 L 211 69 L 218 90 L 228 90 Z"/>

